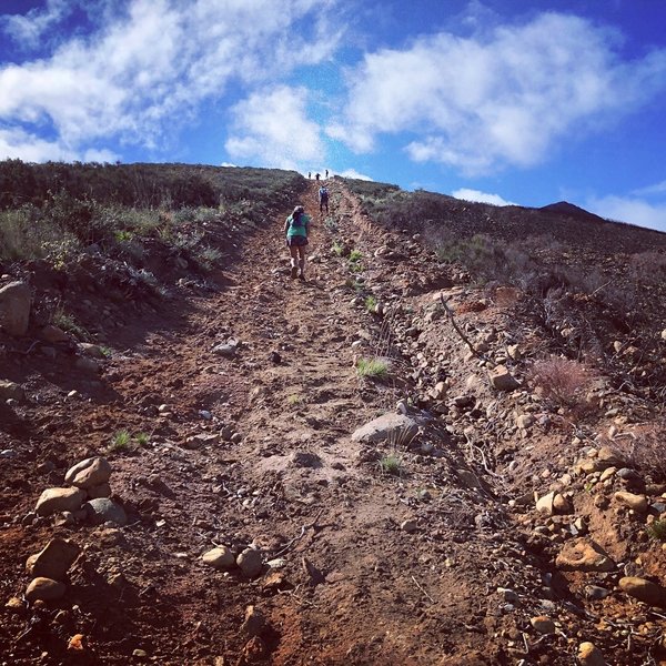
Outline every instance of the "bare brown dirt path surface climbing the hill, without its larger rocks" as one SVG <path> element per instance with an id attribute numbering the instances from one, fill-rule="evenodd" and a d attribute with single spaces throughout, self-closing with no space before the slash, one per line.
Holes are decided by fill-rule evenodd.
<path id="1" fill-rule="evenodd" d="M 314 222 L 306 282 L 289 276 L 284 211 L 244 239 L 239 262 L 214 276 L 220 289 L 175 296 L 169 312 L 119 330 L 104 382 L 83 400 L 63 400 L 77 375 L 27 381 L 38 398 L 1 442 L 18 453 L 2 467 L 3 597 L 20 596 L 26 558 L 51 536 L 83 554 L 62 601 L 6 613 L 3 663 L 571 663 L 576 642 L 563 632 L 529 635 L 527 618 L 555 608 L 567 632 L 589 636 L 594 617 L 583 630 L 584 610 L 551 601 L 546 559 L 516 527 L 523 509 L 508 511 L 509 497 L 533 487 L 528 456 L 551 452 L 559 435 L 534 451 L 516 444 L 509 410 L 531 396 L 507 407 L 487 382 L 467 385 L 477 359 L 448 326 L 423 324 L 437 314 L 433 291 L 451 286 L 442 266 L 410 236 L 370 225 L 340 181 L 329 184 L 327 219 L 315 182 L 303 195 Z M 355 248 L 362 270 L 333 242 Z M 390 304 L 389 316 L 367 312 L 361 284 Z M 470 334 L 503 325 L 501 306 L 477 313 L 477 294 L 456 289 Z M 423 331 L 416 312 L 430 313 Z M 230 341 L 231 357 L 215 353 Z M 391 352 L 391 380 L 359 379 L 356 356 L 379 351 Z M 352 441 L 438 373 L 462 398 L 436 427 L 424 422 L 423 447 Z M 483 412 L 465 402 L 472 393 Z M 108 452 L 123 428 L 150 435 L 145 446 L 108 453 L 127 527 L 21 524 L 44 487 Z M 398 476 L 380 467 L 391 453 Z M 526 472 L 509 493 L 512 470 Z M 216 572 L 201 559 L 216 545 L 236 554 L 252 545 L 264 563 L 283 562 L 254 578 Z M 498 587 L 515 592 L 504 599 Z M 265 618 L 261 638 L 243 624 L 249 606 Z M 67 652 L 74 634 L 85 644 L 75 655 Z"/>

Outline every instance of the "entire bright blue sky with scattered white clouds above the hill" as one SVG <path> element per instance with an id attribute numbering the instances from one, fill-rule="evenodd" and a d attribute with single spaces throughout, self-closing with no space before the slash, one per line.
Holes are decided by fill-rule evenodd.
<path id="1" fill-rule="evenodd" d="M 323 171 L 666 231 L 663 0 L 0 0 L 0 159 Z"/>

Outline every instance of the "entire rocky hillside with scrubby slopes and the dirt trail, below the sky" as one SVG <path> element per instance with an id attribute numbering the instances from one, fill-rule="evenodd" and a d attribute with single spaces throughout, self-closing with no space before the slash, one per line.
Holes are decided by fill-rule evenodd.
<path id="1" fill-rule="evenodd" d="M 0 216 L 4 662 L 666 663 L 664 234 L 131 168 Z"/>

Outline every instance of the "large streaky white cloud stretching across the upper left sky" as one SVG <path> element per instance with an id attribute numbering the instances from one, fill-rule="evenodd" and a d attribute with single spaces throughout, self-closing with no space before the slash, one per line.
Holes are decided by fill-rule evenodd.
<path id="1" fill-rule="evenodd" d="M 334 4 L 129 0 L 97 32 L 72 37 L 48 58 L 0 68 L 0 122 L 36 142 L 49 128 L 77 154 L 107 137 L 157 148 L 232 80 L 262 84 L 329 58 L 340 38 L 323 39 Z M 23 18 L 37 26 L 40 17 Z M 304 20 L 305 42 L 292 31 Z"/>

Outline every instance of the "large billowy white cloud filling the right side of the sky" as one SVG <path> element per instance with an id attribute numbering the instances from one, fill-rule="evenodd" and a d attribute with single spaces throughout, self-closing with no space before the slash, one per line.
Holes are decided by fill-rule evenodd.
<path id="1" fill-rule="evenodd" d="M 473 38 L 441 32 L 369 53 L 327 133 L 366 152 L 379 134 L 408 132 L 413 160 L 468 173 L 529 167 L 558 140 L 666 89 L 666 50 L 623 62 L 618 41 L 585 19 L 544 13 Z"/>

